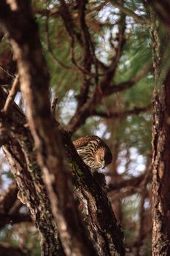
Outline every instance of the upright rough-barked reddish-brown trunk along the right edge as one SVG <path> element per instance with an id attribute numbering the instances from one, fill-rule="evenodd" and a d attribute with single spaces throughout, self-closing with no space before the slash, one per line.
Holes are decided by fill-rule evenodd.
<path id="1" fill-rule="evenodd" d="M 170 255 L 170 70 L 160 80 L 158 26 L 152 13 L 152 52 L 155 68 L 152 124 L 152 255 Z"/>

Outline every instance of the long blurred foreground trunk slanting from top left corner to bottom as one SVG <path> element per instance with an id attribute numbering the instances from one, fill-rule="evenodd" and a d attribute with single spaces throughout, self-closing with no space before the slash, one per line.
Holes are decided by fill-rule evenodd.
<path id="1" fill-rule="evenodd" d="M 11 1 L 9 5 L 2 1 L 1 7 L 0 18 L 9 33 L 18 62 L 20 89 L 26 99 L 28 124 L 37 147 L 38 162 L 44 172 L 64 250 L 66 255 L 96 255 L 74 204 L 71 173 L 66 170 L 61 136 L 55 131 L 55 122 L 50 114 L 47 67 L 30 5 L 28 1 Z M 55 178 L 56 194 L 50 175 Z"/>

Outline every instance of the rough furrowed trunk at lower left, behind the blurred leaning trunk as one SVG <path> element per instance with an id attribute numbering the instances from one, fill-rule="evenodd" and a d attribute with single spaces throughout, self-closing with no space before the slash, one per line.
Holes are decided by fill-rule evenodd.
<path id="1" fill-rule="evenodd" d="M 0 108 L 4 105 L 6 97 L 7 95 L 0 88 Z M 6 127 L 5 129 L 10 127 L 3 150 L 31 218 L 39 230 L 42 254 L 54 256 L 57 252 L 58 255 L 63 256 L 65 254 L 54 225 L 50 200 L 42 181 L 41 170 L 36 163 L 33 138 L 28 129 L 23 127 L 26 119 L 18 108 L 12 105 L 9 117 L 1 113 L 0 124 Z"/>

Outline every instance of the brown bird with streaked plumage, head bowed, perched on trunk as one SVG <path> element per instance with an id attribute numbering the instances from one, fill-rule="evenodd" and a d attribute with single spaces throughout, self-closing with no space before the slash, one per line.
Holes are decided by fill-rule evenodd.
<path id="1" fill-rule="evenodd" d="M 82 158 L 90 171 L 94 173 L 112 162 L 112 153 L 98 136 L 85 136 L 73 141 L 77 153 Z"/>

